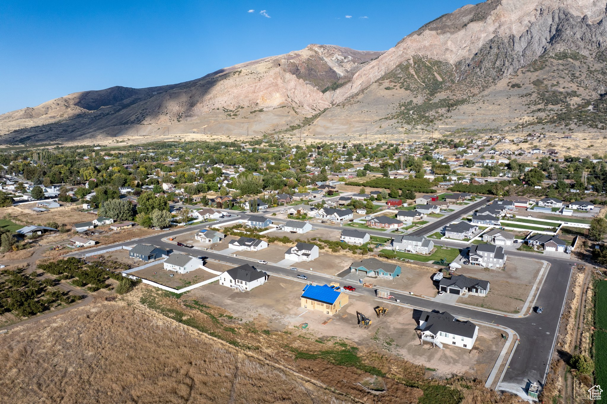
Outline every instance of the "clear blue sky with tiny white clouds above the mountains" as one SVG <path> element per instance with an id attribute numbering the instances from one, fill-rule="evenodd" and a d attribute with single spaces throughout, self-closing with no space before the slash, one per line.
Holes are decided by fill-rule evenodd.
<path id="1" fill-rule="evenodd" d="M 387 50 L 478 2 L 4 0 L 0 113 L 75 91 L 188 81 L 313 43 Z"/>

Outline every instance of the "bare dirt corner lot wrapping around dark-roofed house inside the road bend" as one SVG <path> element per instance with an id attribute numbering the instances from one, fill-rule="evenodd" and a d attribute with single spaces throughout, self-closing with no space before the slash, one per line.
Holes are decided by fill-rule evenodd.
<path id="1" fill-rule="evenodd" d="M 457 301 L 492 310 L 518 313 L 527 300 L 542 265 L 540 261 L 518 257 L 508 257 L 505 271 L 463 265 L 456 274 L 489 280 L 491 283 L 486 297 L 459 297 Z"/>

